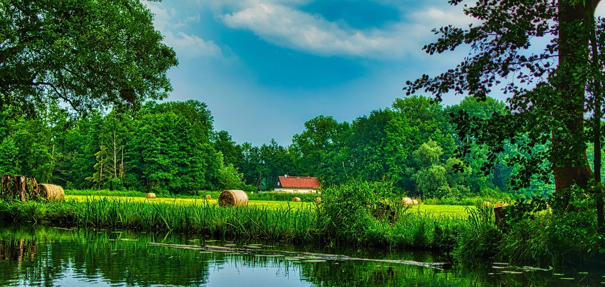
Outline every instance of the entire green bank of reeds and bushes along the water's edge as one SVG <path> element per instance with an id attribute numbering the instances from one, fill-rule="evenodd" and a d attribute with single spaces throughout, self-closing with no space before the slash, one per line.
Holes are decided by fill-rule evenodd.
<path id="1" fill-rule="evenodd" d="M 260 238 L 315 246 L 437 251 L 460 260 L 493 258 L 541 266 L 577 262 L 603 250 L 595 247 L 598 234 L 586 208 L 563 214 L 524 212 L 528 216 L 515 218 L 503 232 L 495 226 L 494 211 L 489 207 L 434 205 L 437 210 L 463 210 L 436 214 L 427 211 L 431 205 L 402 206 L 396 198 L 381 194 L 388 195 L 375 183 L 358 182 L 325 190 L 321 204 L 219 207 L 203 199 L 144 201 L 99 196 L 47 203 L 0 201 L 0 220 L 198 234 L 225 240 Z M 567 228 L 571 226 L 574 228 Z"/>

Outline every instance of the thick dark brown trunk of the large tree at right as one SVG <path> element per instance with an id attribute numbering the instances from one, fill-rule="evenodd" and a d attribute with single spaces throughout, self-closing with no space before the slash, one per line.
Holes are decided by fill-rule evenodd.
<path id="1" fill-rule="evenodd" d="M 575 4 L 571 4 L 574 2 Z M 579 3 L 578 3 L 579 2 Z M 563 121 L 572 137 L 578 138 L 584 133 L 584 95 L 586 83 L 574 83 L 574 68 L 584 65 L 587 55 L 582 57 L 578 51 L 587 51 L 588 37 L 584 33 L 571 33 L 566 27 L 573 25 L 574 22 L 584 22 L 587 13 L 594 11 L 594 7 L 599 0 L 592 1 L 592 5 L 587 3 L 584 6 L 581 1 L 565 0 L 559 1 L 559 57 L 557 85 L 561 105 L 560 112 L 557 114 L 558 120 Z M 578 57 L 580 56 L 580 57 Z M 571 138 L 571 137 L 570 137 Z M 573 146 L 571 150 L 569 147 Z M 583 148 L 584 147 L 584 148 Z M 568 209 L 570 195 L 566 192 L 568 187 L 574 184 L 586 189 L 588 182 L 593 176 L 586 159 L 586 148 L 578 141 L 578 144 L 570 143 L 569 139 L 553 137 L 552 149 L 555 155 L 563 158 L 564 155 L 570 155 L 565 161 L 554 164 L 555 192 L 563 199 L 564 209 Z M 559 166 L 560 165 L 560 166 Z"/>

